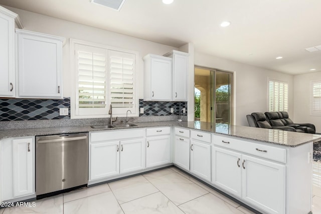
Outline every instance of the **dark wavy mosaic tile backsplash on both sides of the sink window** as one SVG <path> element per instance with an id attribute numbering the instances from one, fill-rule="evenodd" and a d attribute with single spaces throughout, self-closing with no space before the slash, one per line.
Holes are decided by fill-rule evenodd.
<path id="1" fill-rule="evenodd" d="M 70 110 L 68 116 L 59 116 L 59 108 L 70 109 L 70 98 L 0 99 L 0 121 L 70 119 Z M 141 99 L 140 108 L 144 108 L 144 113 L 139 116 L 181 115 L 183 108 L 186 108 L 183 116 L 187 115 L 187 102 L 154 102 Z M 171 113 L 171 108 L 174 108 L 174 113 Z"/>

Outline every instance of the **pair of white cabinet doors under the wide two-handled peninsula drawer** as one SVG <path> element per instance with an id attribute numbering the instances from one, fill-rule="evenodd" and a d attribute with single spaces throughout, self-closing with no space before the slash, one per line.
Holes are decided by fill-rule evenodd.
<path id="1" fill-rule="evenodd" d="M 212 183 L 268 213 L 285 213 L 285 165 L 212 146 Z"/>

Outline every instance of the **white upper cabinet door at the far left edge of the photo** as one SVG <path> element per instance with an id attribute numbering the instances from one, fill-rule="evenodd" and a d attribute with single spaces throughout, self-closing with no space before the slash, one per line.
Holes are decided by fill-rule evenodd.
<path id="1" fill-rule="evenodd" d="M 0 12 L 0 96 L 15 94 L 15 20 Z"/>

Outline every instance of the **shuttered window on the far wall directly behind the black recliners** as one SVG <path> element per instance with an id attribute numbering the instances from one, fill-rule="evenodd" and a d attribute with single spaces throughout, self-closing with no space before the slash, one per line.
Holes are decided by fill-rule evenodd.
<path id="1" fill-rule="evenodd" d="M 286 82 L 269 80 L 268 111 L 288 110 L 288 84 Z"/>

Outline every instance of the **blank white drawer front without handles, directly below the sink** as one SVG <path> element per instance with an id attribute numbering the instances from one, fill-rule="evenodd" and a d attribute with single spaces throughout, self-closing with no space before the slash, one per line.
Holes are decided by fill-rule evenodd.
<path id="1" fill-rule="evenodd" d="M 145 136 L 145 129 L 127 129 L 119 131 L 97 131 L 90 132 L 90 142 L 111 141 L 140 138 Z"/>

